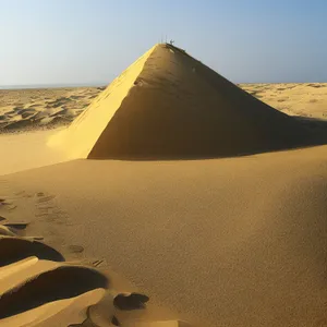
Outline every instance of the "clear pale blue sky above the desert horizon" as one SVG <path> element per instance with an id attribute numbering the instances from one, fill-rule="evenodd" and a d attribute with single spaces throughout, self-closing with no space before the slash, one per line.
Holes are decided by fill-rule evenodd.
<path id="1" fill-rule="evenodd" d="M 234 83 L 327 82 L 327 0 L 0 0 L 0 85 L 108 83 L 161 35 Z"/>

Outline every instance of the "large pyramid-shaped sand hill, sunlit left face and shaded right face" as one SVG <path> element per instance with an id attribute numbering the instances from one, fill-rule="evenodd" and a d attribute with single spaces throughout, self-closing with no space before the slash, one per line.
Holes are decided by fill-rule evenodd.
<path id="1" fill-rule="evenodd" d="M 157 45 L 56 142 L 72 158 L 181 158 L 290 148 L 308 134 L 181 49 Z"/>

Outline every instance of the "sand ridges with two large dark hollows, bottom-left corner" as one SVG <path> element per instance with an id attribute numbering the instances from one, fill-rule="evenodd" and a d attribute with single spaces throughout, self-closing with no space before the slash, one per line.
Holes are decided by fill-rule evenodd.
<path id="1" fill-rule="evenodd" d="M 95 269 L 63 261 L 40 242 L 0 237 L 1 326 L 68 326 L 86 318 L 109 281 Z"/>

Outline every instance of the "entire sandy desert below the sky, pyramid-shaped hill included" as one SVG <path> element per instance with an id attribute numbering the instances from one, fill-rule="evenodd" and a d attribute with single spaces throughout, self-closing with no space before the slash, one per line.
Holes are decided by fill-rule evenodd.
<path id="1" fill-rule="evenodd" d="M 241 85 L 266 106 L 164 48 L 101 94 L 0 90 L 1 326 L 327 324 L 326 145 L 216 159 L 66 161 L 105 158 L 107 146 L 128 157 L 140 149 L 183 157 L 180 149 L 194 150 L 193 133 L 204 135 L 206 123 L 216 132 L 215 108 L 222 109 L 222 155 L 244 155 L 244 145 L 295 147 L 294 135 L 326 143 L 327 84 Z M 177 146 L 162 146 L 161 124 Z M 55 134 L 74 136 L 59 137 L 69 153 L 55 150 Z"/>

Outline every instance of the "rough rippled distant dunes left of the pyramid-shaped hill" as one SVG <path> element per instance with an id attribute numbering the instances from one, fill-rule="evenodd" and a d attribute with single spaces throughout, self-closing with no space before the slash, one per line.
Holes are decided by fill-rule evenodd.
<path id="1" fill-rule="evenodd" d="M 2 89 L 0 132 L 70 124 L 102 87 Z"/>

